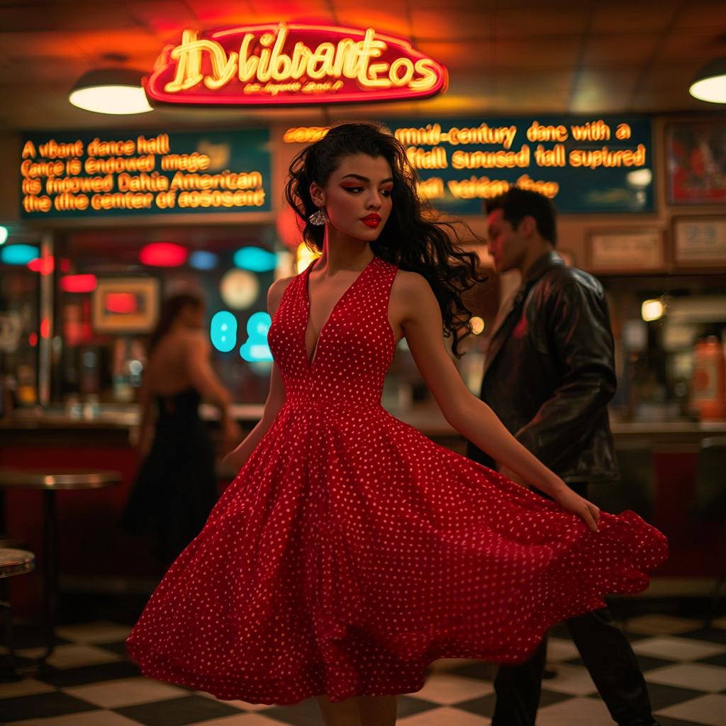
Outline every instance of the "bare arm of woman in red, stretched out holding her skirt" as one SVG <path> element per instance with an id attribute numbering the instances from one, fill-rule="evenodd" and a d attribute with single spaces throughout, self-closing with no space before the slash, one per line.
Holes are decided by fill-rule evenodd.
<path id="1" fill-rule="evenodd" d="M 431 287 L 423 277 L 399 272 L 391 290 L 391 314 L 405 336 L 418 369 L 446 420 L 462 436 L 555 499 L 566 510 L 579 515 L 597 531 L 599 510 L 575 494 L 555 473 L 522 446 L 484 401 L 465 386 L 444 346 L 441 311 Z"/>

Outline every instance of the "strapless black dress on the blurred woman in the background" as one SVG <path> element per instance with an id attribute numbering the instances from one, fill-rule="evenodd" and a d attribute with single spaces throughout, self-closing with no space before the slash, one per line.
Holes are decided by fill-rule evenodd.
<path id="1" fill-rule="evenodd" d="M 189 388 L 158 396 L 154 443 L 134 482 L 121 526 L 150 533 L 153 553 L 171 563 L 202 530 L 215 505 L 214 446 L 197 413 L 200 396 Z"/>

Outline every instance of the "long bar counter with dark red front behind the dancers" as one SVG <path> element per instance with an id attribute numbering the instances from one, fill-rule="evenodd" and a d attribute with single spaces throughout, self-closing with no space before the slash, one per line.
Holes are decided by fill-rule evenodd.
<path id="1" fill-rule="evenodd" d="M 263 409 L 262 405 L 233 405 L 230 412 L 246 434 Z M 465 439 L 446 422 L 433 401 L 406 410 L 391 409 L 391 413 L 437 444 L 465 453 Z M 213 435 L 219 431 L 215 425 L 217 409 L 203 404 L 200 415 L 210 422 Z M 725 436 L 726 421 L 613 420 L 611 425 L 617 449 L 637 446 L 652 452 L 653 491 L 648 519 L 669 537 L 672 550 L 669 560 L 655 573 L 656 578 L 680 582 L 676 590 L 706 595 L 709 584 L 726 569 L 726 523 L 698 521 L 691 517 L 689 507 L 695 496 L 699 444 L 711 436 Z M 102 405 L 97 415 L 88 419 L 70 417 L 60 407 L 46 412 L 21 409 L 0 420 L 1 466 L 89 467 L 122 474 L 121 486 L 94 493 L 94 497 L 84 496 L 86 492 L 59 492 L 62 590 L 144 590 L 158 579 L 158 566 L 148 544 L 118 527 L 139 468 L 138 439 L 137 406 Z M 224 489 L 234 473 L 219 468 L 218 474 L 220 489 Z M 41 552 L 42 512 L 36 494 L 7 492 L 7 521 L 11 537 Z M 690 584 L 684 586 L 686 581 Z M 27 590 L 30 601 L 32 587 Z"/>

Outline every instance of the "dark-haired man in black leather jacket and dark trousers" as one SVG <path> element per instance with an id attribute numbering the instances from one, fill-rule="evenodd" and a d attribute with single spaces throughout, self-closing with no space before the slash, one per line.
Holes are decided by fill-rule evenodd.
<path id="1" fill-rule="evenodd" d="M 518 441 L 587 497 L 587 484 L 619 477 L 608 424 L 616 377 L 603 287 L 555 253 L 556 213 L 546 197 L 513 187 L 489 200 L 486 212 L 497 272 L 518 269 L 522 283 L 494 322 L 481 399 Z M 497 468 L 473 444 L 468 456 Z M 654 725 L 643 674 L 608 609 L 566 624 L 619 726 Z M 534 726 L 546 651 L 543 642 L 526 664 L 499 666 L 492 726 Z"/>

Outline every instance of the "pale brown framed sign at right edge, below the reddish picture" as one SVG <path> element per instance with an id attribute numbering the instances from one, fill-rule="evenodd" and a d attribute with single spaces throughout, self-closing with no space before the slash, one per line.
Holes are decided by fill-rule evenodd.
<path id="1" fill-rule="evenodd" d="M 675 217 L 673 257 L 680 267 L 726 267 L 726 215 Z"/>

